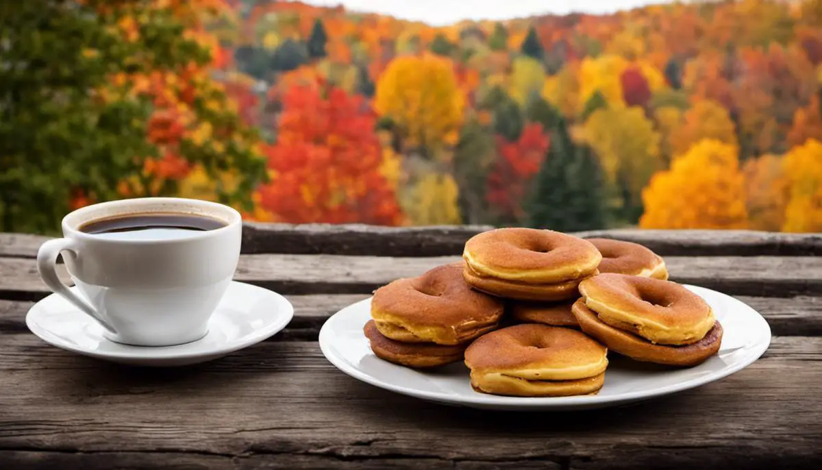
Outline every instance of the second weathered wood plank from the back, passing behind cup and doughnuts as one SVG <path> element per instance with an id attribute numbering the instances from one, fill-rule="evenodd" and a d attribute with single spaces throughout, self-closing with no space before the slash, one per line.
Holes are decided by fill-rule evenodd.
<path id="1" fill-rule="evenodd" d="M 422 274 L 455 256 L 391 258 L 336 255 L 244 255 L 235 279 L 284 294 L 371 293 L 391 280 Z M 673 280 L 757 297 L 822 293 L 822 257 L 666 256 Z M 62 266 L 58 267 L 65 278 Z M 0 298 L 37 300 L 48 289 L 35 260 L 0 258 Z"/>

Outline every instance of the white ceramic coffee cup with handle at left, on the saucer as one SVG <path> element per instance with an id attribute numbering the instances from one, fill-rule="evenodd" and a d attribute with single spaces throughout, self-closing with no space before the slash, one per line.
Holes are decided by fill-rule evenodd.
<path id="1" fill-rule="evenodd" d="M 109 238 L 80 228 L 129 214 L 185 214 L 225 226 L 183 237 Z M 231 283 L 240 256 L 242 220 L 229 206 L 204 200 L 150 197 L 89 205 L 62 219 L 63 238 L 45 242 L 37 270 L 48 288 L 95 319 L 104 336 L 137 346 L 201 339 Z M 62 253 L 77 289 L 55 271 Z"/>

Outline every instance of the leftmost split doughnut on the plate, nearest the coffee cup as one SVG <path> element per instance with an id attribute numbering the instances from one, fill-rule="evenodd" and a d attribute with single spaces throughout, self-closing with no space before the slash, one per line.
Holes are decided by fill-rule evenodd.
<path id="1" fill-rule="evenodd" d="M 503 313 L 501 300 L 471 289 L 462 271 L 462 263 L 443 265 L 378 288 L 363 329 L 374 353 L 409 367 L 462 361 L 468 344 L 496 329 Z"/>

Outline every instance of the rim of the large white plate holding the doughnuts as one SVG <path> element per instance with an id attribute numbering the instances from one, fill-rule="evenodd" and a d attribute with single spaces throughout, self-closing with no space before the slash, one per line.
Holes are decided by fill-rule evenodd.
<path id="1" fill-rule="evenodd" d="M 339 371 L 344 372 L 344 374 L 352 376 L 357 380 L 363 381 L 368 385 L 372 385 L 381 389 L 386 389 L 397 394 L 412 396 L 417 399 L 424 399 L 439 403 L 453 403 L 463 406 L 493 406 L 498 408 L 574 408 L 617 403 L 630 403 L 643 399 L 653 399 L 669 394 L 676 394 L 678 392 L 682 392 L 688 389 L 695 389 L 697 387 L 709 384 L 711 382 L 723 380 L 727 376 L 732 376 L 738 371 L 741 371 L 747 366 L 750 366 L 750 364 L 753 364 L 754 362 L 758 361 L 760 357 L 762 357 L 762 355 L 770 347 L 773 334 L 770 329 L 770 325 L 768 324 L 768 320 L 765 320 L 764 316 L 762 316 L 762 314 L 759 311 L 756 311 L 753 307 L 749 306 L 745 302 L 742 302 L 741 300 L 732 297 L 726 293 L 721 293 L 713 289 L 704 288 L 702 286 L 696 286 L 693 284 L 681 285 L 685 288 L 688 288 L 691 292 L 694 292 L 697 295 L 700 295 L 698 292 L 700 290 L 719 294 L 720 296 L 727 297 L 727 299 L 730 299 L 732 302 L 738 302 L 742 306 L 745 306 L 746 308 L 750 309 L 750 311 L 755 312 L 756 316 L 759 317 L 759 321 L 762 327 L 760 334 L 764 337 L 764 340 L 762 341 L 762 343 L 756 344 L 755 348 L 751 348 L 750 356 L 746 357 L 746 359 L 743 361 L 740 361 L 732 366 L 723 368 L 722 370 L 717 371 L 714 374 L 698 376 L 689 380 L 677 382 L 676 384 L 667 385 L 660 389 L 654 389 L 653 392 L 649 392 L 647 390 L 637 390 L 625 394 L 580 395 L 570 397 L 508 397 L 502 395 L 479 393 L 477 394 L 477 396 L 463 396 L 457 394 L 448 394 L 445 392 L 420 391 L 418 389 L 411 389 L 408 387 L 404 387 L 402 385 L 395 385 L 384 380 L 377 380 L 374 376 L 367 374 L 363 371 L 360 371 L 358 368 L 354 366 L 351 366 L 347 361 L 344 360 L 344 358 L 337 357 L 337 354 L 332 351 L 329 340 L 327 339 L 330 335 L 330 322 L 332 319 L 334 319 L 335 316 L 339 315 L 340 312 L 347 310 L 353 306 L 356 306 L 360 303 L 370 302 L 373 296 L 358 302 L 354 302 L 348 306 L 344 306 L 343 308 L 339 309 L 339 311 L 336 311 L 334 315 L 330 316 L 323 323 L 317 340 L 320 343 L 321 352 L 323 353 L 323 356 L 326 357 L 326 360 L 328 360 L 333 366 L 339 369 Z M 326 338 L 325 341 L 324 338 Z"/>

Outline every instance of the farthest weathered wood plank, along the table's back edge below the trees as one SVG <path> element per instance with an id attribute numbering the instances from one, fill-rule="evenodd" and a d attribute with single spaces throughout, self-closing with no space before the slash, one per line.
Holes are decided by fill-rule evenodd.
<path id="1" fill-rule="evenodd" d="M 466 240 L 491 227 L 379 227 L 373 225 L 246 223 L 246 254 L 326 254 L 349 256 L 454 256 Z M 577 233 L 637 242 L 662 256 L 818 256 L 819 233 L 769 233 L 749 230 L 641 230 Z M 48 237 L 0 233 L 0 256 L 34 258 Z"/>

